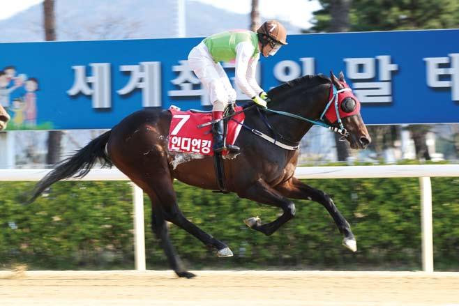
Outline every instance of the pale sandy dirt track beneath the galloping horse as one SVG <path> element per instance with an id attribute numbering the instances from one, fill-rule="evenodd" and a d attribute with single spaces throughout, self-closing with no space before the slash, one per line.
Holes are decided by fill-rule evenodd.
<path id="1" fill-rule="evenodd" d="M 459 273 L 0 271 L 0 305 L 459 306 Z"/>

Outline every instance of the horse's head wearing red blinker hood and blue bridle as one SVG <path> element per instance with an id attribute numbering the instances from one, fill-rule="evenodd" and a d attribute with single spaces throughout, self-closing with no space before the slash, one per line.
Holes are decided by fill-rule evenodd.
<path id="1" fill-rule="evenodd" d="M 326 109 L 325 119 L 336 128 L 340 128 L 340 121 L 343 122 L 344 128 L 347 130 L 345 139 L 349 141 L 351 148 L 366 148 L 371 142 L 371 137 L 368 135 L 368 130 L 360 114 L 359 99 L 347 85 L 343 72 L 340 72 L 339 79 L 331 72 L 330 78 L 336 91 L 331 86 L 329 100 L 333 101 Z M 337 99 L 335 94 L 338 96 Z M 334 105 L 335 102 L 338 102 L 338 109 Z"/>

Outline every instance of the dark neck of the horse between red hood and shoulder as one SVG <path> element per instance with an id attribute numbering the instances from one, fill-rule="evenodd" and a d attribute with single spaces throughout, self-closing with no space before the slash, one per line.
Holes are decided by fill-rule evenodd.
<path id="1" fill-rule="evenodd" d="M 322 86 L 322 90 L 310 93 L 307 97 L 289 97 L 277 102 L 272 109 L 317 120 L 324 111 L 327 99 L 328 90 Z M 300 141 L 313 126 L 313 123 L 278 114 L 269 116 L 269 122 L 276 132 L 292 141 Z"/>

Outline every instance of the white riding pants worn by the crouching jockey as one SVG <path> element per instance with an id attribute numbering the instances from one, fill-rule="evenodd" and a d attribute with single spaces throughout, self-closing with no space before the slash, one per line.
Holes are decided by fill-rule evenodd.
<path id="1" fill-rule="evenodd" d="M 220 63 L 213 61 L 209 49 L 201 42 L 188 54 L 188 66 L 209 93 L 213 111 L 223 112 L 228 102 L 236 101 L 236 91 Z"/>

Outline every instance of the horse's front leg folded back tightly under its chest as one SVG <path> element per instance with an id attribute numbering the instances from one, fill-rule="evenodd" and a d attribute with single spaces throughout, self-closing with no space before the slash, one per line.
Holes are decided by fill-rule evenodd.
<path id="1" fill-rule="evenodd" d="M 259 217 L 250 217 L 244 220 L 248 227 L 256 231 L 261 231 L 266 236 L 273 234 L 279 227 L 292 219 L 295 215 L 295 204 L 290 199 L 283 197 L 280 192 L 271 188 L 262 179 L 250 185 L 246 190 L 238 192 L 238 195 L 241 198 L 257 201 L 261 204 L 282 208 L 283 214 L 270 223 L 262 224 L 262 220 L 260 220 Z"/>

